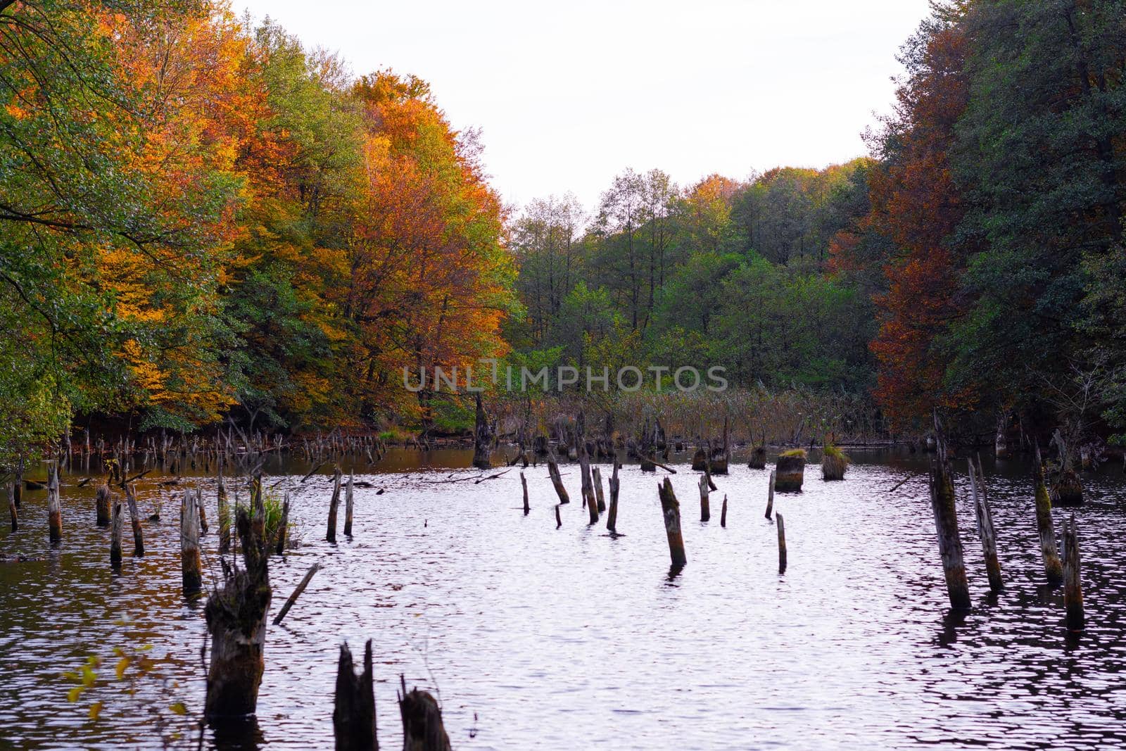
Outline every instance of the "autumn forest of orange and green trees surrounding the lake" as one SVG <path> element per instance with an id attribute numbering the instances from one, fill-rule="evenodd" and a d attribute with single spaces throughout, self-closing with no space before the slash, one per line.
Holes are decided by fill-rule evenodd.
<path id="1" fill-rule="evenodd" d="M 404 369 L 482 358 L 1123 441 L 1123 2 L 940 2 L 900 55 L 847 163 L 508 207 L 414 77 L 223 2 L 0 0 L 0 464 L 93 422 L 457 432 Z"/>

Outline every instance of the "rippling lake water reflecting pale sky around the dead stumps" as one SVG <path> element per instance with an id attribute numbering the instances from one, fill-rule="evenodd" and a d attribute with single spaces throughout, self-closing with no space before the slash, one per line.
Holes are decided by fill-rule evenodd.
<path id="1" fill-rule="evenodd" d="M 587 524 L 577 465 L 572 502 L 555 525 L 545 465 L 477 474 L 466 452 L 392 452 L 357 466 L 354 537 L 324 542 L 331 477 L 310 465 L 286 477 L 302 545 L 274 558 L 276 611 L 309 566 L 313 579 L 270 627 L 257 725 L 208 728 L 205 748 L 332 746 L 341 641 L 373 640 L 381 737 L 401 744 L 400 673 L 440 694 L 455 749 L 1106 749 L 1126 742 L 1126 484 L 1118 467 L 1084 475 L 1081 535 L 1088 631 L 1065 636 L 1063 593 L 1043 583 L 1027 466 L 991 465 L 986 482 L 1008 591 L 989 594 L 958 461 L 958 515 L 974 608 L 951 615 L 942 584 L 926 459 L 851 452 L 844 482 L 806 470 L 801 494 L 779 494 L 789 565 L 763 518 L 769 471 L 732 463 L 717 476 L 712 520 L 698 521 L 698 475 L 678 465 L 688 565 L 670 578 L 656 479 L 622 471 L 618 530 Z M 609 466 L 602 465 L 605 477 Z M 346 472 L 348 466 L 345 466 Z M 322 471 L 323 472 L 323 471 Z M 41 473 L 32 473 L 38 476 Z M 63 474 L 64 538 L 47 542 L 44 491 L 25 494 L 21 527 L 0 529 L 0 746 L 195 748 L 203 705 L 202 604 L 180 594 L 179 490 L 138 483 L 146 555 L 109 566 L 93 488 Z M 155 477 L 159 480 L 160 477 Z M 895 492 L 901 480 L 908 482 Z M 218 575 L 213 479 L 206 576 Z M 727 526 L 720 526 L 723 495 Z M 240 491 L 245 499 L 247 491 Z M 1056 509 L 1056 529 L 1064 513 Z M 341 516 L 342 521 L 342 516 Z M 113 679 L 115 646 L 152 645 L 160 677 Z M 78 701 L 63 677 L 90 655 L 98 683 Z M 91 721 L 91 703 L 104 704 Z M 168 707 L 182 701 L 189 715 Z M 177 734 L 180 734 L 177 736 Z"/>

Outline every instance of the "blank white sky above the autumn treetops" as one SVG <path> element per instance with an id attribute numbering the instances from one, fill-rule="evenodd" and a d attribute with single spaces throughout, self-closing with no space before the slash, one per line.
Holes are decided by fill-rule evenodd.
<path id="1" fill-rule="evenodd" d="M 355 73 L 428 80 L 513 206 L 590 208 L 627 167 L 688 185 L 865 153 L 928 0 L 232 0 Z"/>

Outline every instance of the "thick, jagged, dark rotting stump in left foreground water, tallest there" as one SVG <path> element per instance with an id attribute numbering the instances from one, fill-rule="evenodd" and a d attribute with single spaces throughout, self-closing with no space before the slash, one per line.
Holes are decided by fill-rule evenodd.
<path id="1" fill-rule="evenodd" d="M 243 569 L 224 569 L 223 589 L 212 592 L 204 609 L 212 636 L 204 707 L 208 719 L 254 714 L 265 668 L 266 614 L 272 596 L 266 540 L 258 534 L 258 520 L 251 521 L 243 509 L 235 528 Z"/>

